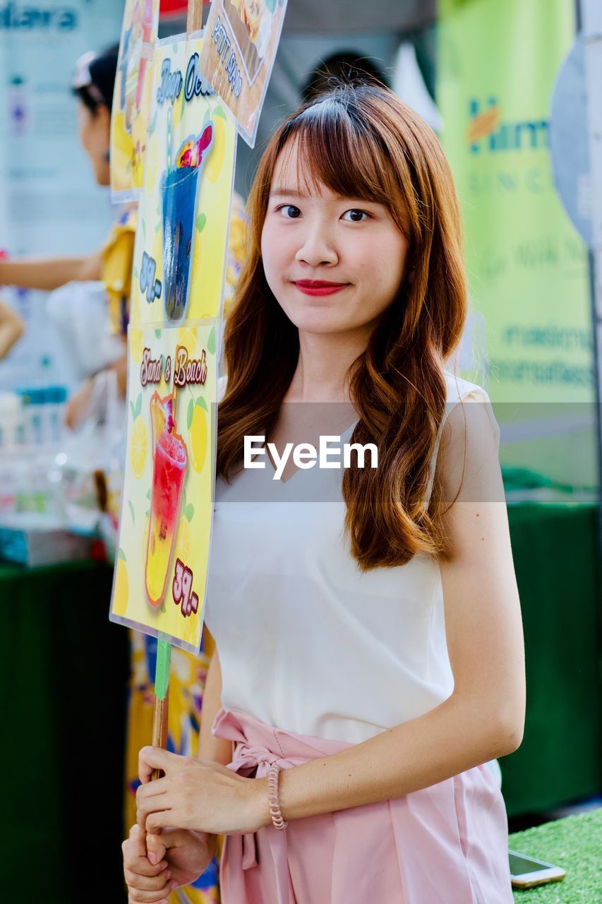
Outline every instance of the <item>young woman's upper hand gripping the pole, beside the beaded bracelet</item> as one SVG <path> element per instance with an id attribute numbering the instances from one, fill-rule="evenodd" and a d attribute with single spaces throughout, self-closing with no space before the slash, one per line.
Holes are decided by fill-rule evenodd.
<path id="1" fill-rule="evenodd" d="M 140 750 L 138 765 L 137 820 L 146 832 L 173 826 L 238 834 L 271 822 L 267 778 L 244 778 L 219 763 L 155 747 Z M 151 782 L 154 769 L 163 769 L 165 777 Z"/>

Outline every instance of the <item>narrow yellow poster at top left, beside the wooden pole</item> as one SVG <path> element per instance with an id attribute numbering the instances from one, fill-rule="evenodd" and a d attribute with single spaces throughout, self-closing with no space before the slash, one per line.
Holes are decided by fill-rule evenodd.
<path id="1" fill-rule="evenodd" d="M 111 114 L 111 195 L 136 199 L 144 179 L 159 0 L 127 0 Z"/>

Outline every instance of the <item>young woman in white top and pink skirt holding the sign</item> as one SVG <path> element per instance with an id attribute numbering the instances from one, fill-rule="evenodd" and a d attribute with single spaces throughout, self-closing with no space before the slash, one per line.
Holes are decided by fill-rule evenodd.
<path id="1" fill-rule="evenodd" d="M 250 222 L 201 759 L 141 750 L 129 900 L 166 899 L 223 833 L 226 904 L 511 904 L 487 763 L 522 738 L 522 626 L 495 421 L 447 371 L 466 313 L 447 161 L 388 90 L 334 89 L 277 130 Z M 273 479 L 325 434 L 378 466 L 297 456 Z M 274 444 L 265 469 L 241 467 L 245 436 Z"/>

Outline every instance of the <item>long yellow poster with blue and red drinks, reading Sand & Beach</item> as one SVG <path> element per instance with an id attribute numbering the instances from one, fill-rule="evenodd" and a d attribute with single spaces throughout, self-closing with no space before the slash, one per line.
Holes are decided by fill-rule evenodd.
<path id="1" fill-rule="evenodd" d="M 111 620 L 197 652 L 212 524 L 218 341 L 236 130 L 202 39 L 159 42 L 128 330 Z"/>

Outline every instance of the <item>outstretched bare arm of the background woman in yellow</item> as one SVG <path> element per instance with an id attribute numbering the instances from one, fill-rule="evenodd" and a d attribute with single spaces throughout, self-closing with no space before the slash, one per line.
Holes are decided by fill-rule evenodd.
<path id="1" fill-rule="evenodd" d="M 80 258 L 0 260 L 0 286 L 21 286 L 50 292 L 71 281 L 100 278 L 102 253 Z"/>

